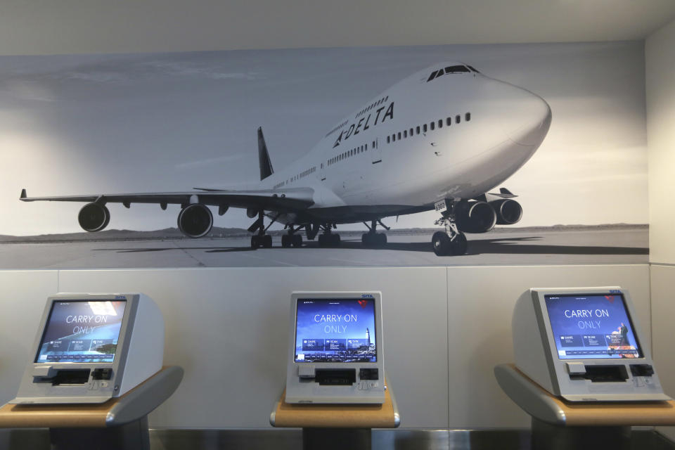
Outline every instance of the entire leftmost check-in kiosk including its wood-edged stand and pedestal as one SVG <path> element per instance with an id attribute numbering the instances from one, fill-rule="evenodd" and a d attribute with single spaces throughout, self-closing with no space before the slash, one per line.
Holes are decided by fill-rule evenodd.
<path id="1" fill-rule="evenodd" d="M 183 378 L 163 354 L 164 319 L 146 295 L 49 297 L 0 428 L 49 428 L 55 450 L 148 450 L 148 413 Z"/>

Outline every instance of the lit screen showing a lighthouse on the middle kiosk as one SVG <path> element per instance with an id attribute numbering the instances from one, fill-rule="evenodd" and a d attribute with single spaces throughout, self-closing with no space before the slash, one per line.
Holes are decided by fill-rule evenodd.
<path id="1" fill-rule="evenodd" d="M 298 299 L 295 362 L 377 362 L 375 301 Z"/>

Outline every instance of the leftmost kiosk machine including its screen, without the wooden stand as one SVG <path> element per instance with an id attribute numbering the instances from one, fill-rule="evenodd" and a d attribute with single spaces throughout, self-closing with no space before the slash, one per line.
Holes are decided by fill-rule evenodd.
<path id="1" fill-rule="evenodd" d="M 57 294 L 32 349 L 10 403 L 103 403 L 160 371 L 164 319 L 143 294 Z"/>

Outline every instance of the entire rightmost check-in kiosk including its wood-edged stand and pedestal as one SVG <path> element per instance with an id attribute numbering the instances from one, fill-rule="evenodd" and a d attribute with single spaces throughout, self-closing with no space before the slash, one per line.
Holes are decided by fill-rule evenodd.
<path id="1" fill-rule="evenodd" d="M 675 425 L 626 290 L 532 288 L 512 327 L 515 364 L 494 374 L 532 416 L 532 449 L 633 448 L 631 426 Z"/>

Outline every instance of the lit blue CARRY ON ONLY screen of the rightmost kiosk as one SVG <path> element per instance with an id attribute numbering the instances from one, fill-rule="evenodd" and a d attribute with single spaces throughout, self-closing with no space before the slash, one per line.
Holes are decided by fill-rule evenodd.
<path id="1" fill-rule="evenodd" d="M 560 359 L 640 358 L 640 345 L 624 297 L 546 295 Z"/>

